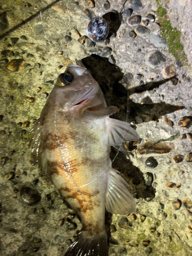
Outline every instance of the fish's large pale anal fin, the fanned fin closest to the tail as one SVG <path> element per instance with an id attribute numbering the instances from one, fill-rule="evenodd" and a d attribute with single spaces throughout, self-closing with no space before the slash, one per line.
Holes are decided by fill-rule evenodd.
<path id="1" fill-rule="evenodd" d="M 129 186 L 126 181 L 111 169 L 108 194 L 106 196 L 106 210 L 112 214 L 131 214 L 136 209 L 136 202 L 126 188 Z"/>

